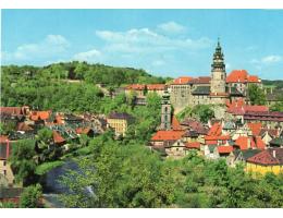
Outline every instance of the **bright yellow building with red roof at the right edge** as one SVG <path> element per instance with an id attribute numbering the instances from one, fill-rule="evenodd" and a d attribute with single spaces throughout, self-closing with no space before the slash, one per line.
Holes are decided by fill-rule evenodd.
<path id="1" fill-rule="evenodd" d="M 253 173 L 283 173 L 283 148 L 269 148 L 250 157 L 246 161 L 246 171 Z"/>

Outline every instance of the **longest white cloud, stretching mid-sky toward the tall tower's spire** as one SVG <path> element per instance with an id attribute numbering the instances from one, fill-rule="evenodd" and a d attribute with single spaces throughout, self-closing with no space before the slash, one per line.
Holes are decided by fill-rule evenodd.
<path id="1" fill-rule="evenodd" d="M 97 31 L 96 35 L 107 43 L 107 51 L 128 53 L 164 52 L 169 50 L 197 50 L 212 45 L 209 38 L 172 38 L 148 28 L 133 28 L 126 32 Z"/>

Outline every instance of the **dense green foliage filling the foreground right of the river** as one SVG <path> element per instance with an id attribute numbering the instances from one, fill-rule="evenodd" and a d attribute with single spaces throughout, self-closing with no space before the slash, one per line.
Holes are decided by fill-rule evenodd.
<path id="1" fill-rule="evenodd" d="M 77 159 L 78 171 L 62 178 L 66 207 L 283 207 L 283 175 L 255 178 L 243 166 L 206 160 L 192 152 L 163 161 L 140 144 L 124 144 L 107 134 L 90 142 L 90 156 Z"/>

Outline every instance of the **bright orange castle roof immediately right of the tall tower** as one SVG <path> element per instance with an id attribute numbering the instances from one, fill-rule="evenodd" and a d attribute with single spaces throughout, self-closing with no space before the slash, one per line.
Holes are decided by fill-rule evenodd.
<path id="1" fill-rule="evenodd" d="M 248 75 L 246 70 L 234 70 L 227 77 L 226 83 L 260 83 L 256 75 Z"/>

